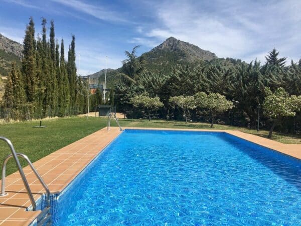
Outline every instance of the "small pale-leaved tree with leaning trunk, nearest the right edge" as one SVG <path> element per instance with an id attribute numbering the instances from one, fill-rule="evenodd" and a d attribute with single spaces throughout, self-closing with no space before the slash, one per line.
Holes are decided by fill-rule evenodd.
<path id="1" fill-rule="evenodd" d="M 265 88 L 266 97 L 263 102 L 264 114 L 272 121 L 268 138 L 272 138 L 272 133 L 277 124 L 284 117 L 293 117 L 296 110 L 301 107 L 300 96 L 289 96 L 283 88 L 278 88 L 274 93 L 270 88 Z"/>

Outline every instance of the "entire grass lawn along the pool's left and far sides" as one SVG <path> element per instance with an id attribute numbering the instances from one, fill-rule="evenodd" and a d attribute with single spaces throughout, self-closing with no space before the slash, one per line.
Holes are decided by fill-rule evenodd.
<path id="1" fill-rule="evenodd" d="M 0 136 L 10 139 L 17 152 L 27 155 L 32 162 L 43 158 L 46 155 L 79 140 L 97 130 L 106 127 L 106 118 L 89 117 L 87 121 L 84 117 L 59 118 L 44 120 L 43 125 L 47 128 L 33 128 L 39 126 L 39 121 L 21 122 L 14 124 L 0 125 Z M 209 124 L 188 123 L 166 120 L 120 120 L 123 127 L 154 127 L 154 128 L 186 128 L 186 129 L 210 129 Z M 112 121 L 112 126 L 116 124 Z M 267 131 L 248 130 L 245 128 L 215 125 L 214 129 L 240 130 L 261 137 L 267 137 Z M 273 138 L 282 143 L 301 144 L 300 137 L 274 133 Z M 0 165 L 4 158 L 10 154 L 10 149 L 6 143 L 0 142 Z M 20 159 L 22 166 L 26 163 Z M 7 174 L 17 171 L 15 162 L 11 159 L 8 163 Z M 0 175 L 1 178 L 1 175 Z"/>

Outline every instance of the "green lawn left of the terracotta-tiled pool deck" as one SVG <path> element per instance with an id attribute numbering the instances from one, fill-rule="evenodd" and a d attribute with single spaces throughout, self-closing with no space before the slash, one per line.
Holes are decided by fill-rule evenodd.
<path id="1" fill-rule="evenodd" d="M 39 121 L 0 125 L 0 136 L 10 139 L 17 152 L 27 155 L 32 162 L 35 162 L 106 127 L 106 120 L 93 117 L 90 117 L 89 121 L 84 117 L 60 118 L 43 121 L 42 125 L 47 126 L 46 128 L 33 128 L 39 125 Z M 9 146 L 0 141 L 1 166 L 8 154 L 11 154 Z M 22 166 L 27 165 L 21 158 L 20 162 Z M 8 162 L 7 175 L 15 171 L 17 171 L 16 163 L 11 159 Z"/>

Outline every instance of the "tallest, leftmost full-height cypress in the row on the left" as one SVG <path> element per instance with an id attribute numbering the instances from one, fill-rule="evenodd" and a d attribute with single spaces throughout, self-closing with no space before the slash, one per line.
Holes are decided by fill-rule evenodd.
<path id="1" fill-rule="evenodd" d="M 24 78 L 25 93 L 27 100 L 33 102 L 36 93 L 36 40 L 35 40 L 35 23 L 33 18 L 29 19 L 24 37 L 24 57 L 22 58 L 22 74 Z"/>

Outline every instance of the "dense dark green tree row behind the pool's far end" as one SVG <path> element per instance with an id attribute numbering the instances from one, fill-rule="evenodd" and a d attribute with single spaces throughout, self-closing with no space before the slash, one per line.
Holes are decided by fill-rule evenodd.
<path id="1" fill-rule="evenodd" d="M 114 85 L 117 109 L 125 112 L 128 118 L 150 118 L 149 107 L 141 107 L 143 98 L 139 97 L 139 102 L 135 97 L 143 95 L 158 97 L 162 102 L 159 107 L 155 99 L 148 100 L 148 103 L 155 102 L 152 114 L 157 118 L 212 123 L 217 116 L 216 122 L 220 124 L 255 128 L 259 110 L 260 128 L 270 129 L 275 121 L 271 111 L 275 109 L 271 110 L 271 104 L 265 103 L 266 97 L 279 93 L 279 88 L 283 91 L 280 92 L 283 98 L 301 95 L 301 60 L 297 63 L 291 61 L 286 66 L 286 58 L 280 58 L 276 49 L 268 53 L 263 65 L 257 60 L 246 63 L 231 58 L 214 59 L 182 63 L 173 67 L 170 73 L 162 73 L 148 70 L 143 59 L 136 57 L 136 48 L 125 52 L 127 59 Z M 203 107 L 196 107 L 190 98 L 200 92 L 208 98 L 216 98 L 211 103 L 207 102 L 207 106 L 202 103 Z M 224 101 L 216 102 L 218 95 Z M 274 95 L 275 99 L 275 104 L 280 104 Z M 210 110 L 212 108 L 208 104 L 222 106 L 226 100 L 231 101 L 233 107 L 219 114 Z M 273 127 L 281 132 L 296 133 L 301 128 L 300 110 L 297 106 L 291 110 L 293 114 L 282 111 Z"/>

